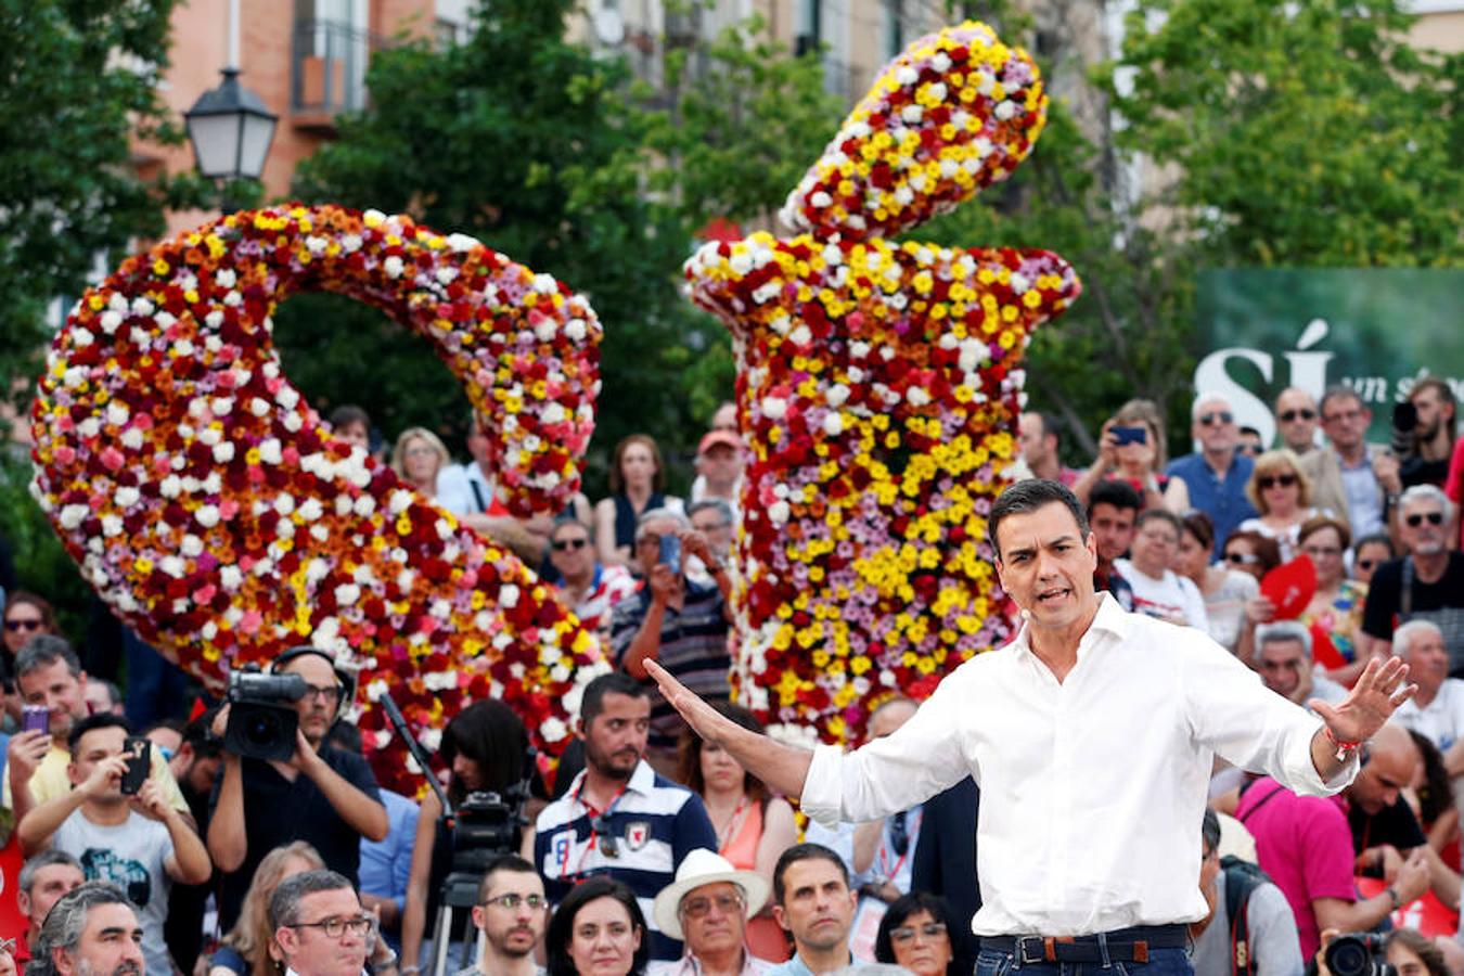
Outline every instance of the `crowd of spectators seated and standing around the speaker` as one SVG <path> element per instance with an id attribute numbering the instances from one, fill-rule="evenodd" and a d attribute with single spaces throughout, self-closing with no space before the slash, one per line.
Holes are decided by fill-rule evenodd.
<path id="1" fill-rule="evenodd" d="M 1385 926 L 1420 898 L 1458 910 L 1464 439 L 1446 383 L 1423 380 L 1407 402 L 1382 448 L 1366 442 L 1370 414 L 1350 388 L 1319 402 L 1288 389 L 1265 449 L 1222 397 L 1202 394 L 1198 449 L 1168 461 L 1161 411 L 1132 401 L 1085 470 L 1061 462 L 1057 421 L 1020 417 L 1020 467 L 1072 489 L 1094 585 L 1118 607 L 1206 634 L 1297 705 L 1342 701 L 1379 658 L 1407 661 L 1417 683 L 1340 799 L 1214 771 L 1211 811 L 1193 825 L 1208 913 L 1187 939 L 1200 976 L 1288 976 L 1334 934 Z M 329 421 L 372 449 L 363 411 Z M 483 701 L 441 732 L 441 797 L 381 789 L 348 723 L 354 676 L 309 647 L 271 666 L 306 688 L 288 758 L 227 745 L 228 705 L 199 701 L 186 723 L 135 729 L 130 672 L 127 695 L 88 676 L 50 603 L 12 591 L 0 976 L 971 973 L 982 951 L 974 778 L 870 822 L 801 825 L 801 797 L 698 736 L 653 680 L 663 669 L 763 735 L 728 701 L 744 457 L 733 407 L 698 442 L 685 499 L 668 493 L 656 440 L 635 435 L 613 451 L 610 498 L 520 519 L 476 420 L 466 448 L 471 459 L 454 465 L 433 432 L 411 427 L 376 449 L 556 585 L 606 648 L 615 670 L 587 686 L 558 770 L 537 770 L 520 718 Z M 868 739 L 919 713 L 892 694 Z M 1363 896 L 1359 878 L 1372 876 Z M 1379 953 L 1410 976 L 1464 973 L 1452 936 L 1400 929 Z"/>

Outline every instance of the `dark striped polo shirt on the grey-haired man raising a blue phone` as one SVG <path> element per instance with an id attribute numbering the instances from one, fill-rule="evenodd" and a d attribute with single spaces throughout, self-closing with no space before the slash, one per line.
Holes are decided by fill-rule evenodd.
<path id="1" fill-rule="evenodd" d="M 704 587 L 690 579 L 684 581 L 685 598 L 681 610 L 666 607 L 660 622 L 660 650 L 656 663 L 691 691 L 707 701 L 726 701 L 731 695 L 728 672 L 732 657 L 728 654 L 728 622 L 722 616 L 722 591 Z M 615 648 L 616 667 L 625 666 L 625 653 L 635 639 L 646 612 L 650 610 L 650 587 L 615 604 L 610 644 Z M 656 683 L 646 680 L 651 689 L 650 698 L 650 745 L 672 749 L 685 727 L 681 716 L 662 697 Z"/>

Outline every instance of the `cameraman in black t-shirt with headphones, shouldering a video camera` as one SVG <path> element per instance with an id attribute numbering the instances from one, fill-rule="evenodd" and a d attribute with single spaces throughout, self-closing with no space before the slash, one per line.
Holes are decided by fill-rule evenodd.
<path id="1" fill-rule="evenodd" d="M 268 675 L 231 675 L 230 704 L 214 721 L 224 771 L 208 822 L 223 931 L 239 919 L 255 869 L 275 847 L 305 840 L 356 884 L 360 838 L 386 836 L 386 808 L 366 759 L 324 745 L 353 692 L 351 676 L 309 645 L 277 657 Z"/>

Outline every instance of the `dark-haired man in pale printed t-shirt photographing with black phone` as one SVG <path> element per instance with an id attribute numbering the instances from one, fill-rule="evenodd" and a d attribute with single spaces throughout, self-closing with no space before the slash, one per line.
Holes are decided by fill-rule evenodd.
<path id="1" fill-rule="evenodd" d="M 72 792 L 32 809 L 16 833 L 26 856 L 44 847 L 81 862 L 88 881 L 110 881 L 138 906 L 142 953 L 149 973 L 173 972 L 163 938 L 174 881 L 202 884 L 208 850 L 183 815 L 148 777 L 146 739 L 102 713 L 83 718 L 69 736 Z M 130 790 L 130 793 L 127 792 Z"/>

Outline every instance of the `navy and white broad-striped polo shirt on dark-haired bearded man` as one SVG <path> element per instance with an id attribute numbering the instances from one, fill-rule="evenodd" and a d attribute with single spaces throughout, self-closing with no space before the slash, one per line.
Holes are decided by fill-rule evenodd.
<path id="1" fill-rule="evenodd" d="M 681 958 L 681 942 L 656 929 L 651 903 L 675 881 L 682 857 L 697 847 L 717 849 L 717 834 L 701 797 L 657 776 L 641 759 L 602 817 L 605 833 L 596 836 L 590 809 L 580 800 L 584 776 L 581 770 L 569 790 L 534 821 L 534 866 L 543 875 L 545 894 L 559 904 L 575 884 L 593 875 L 624 881 L 635 893 L 650 928 L 650 957 Z M 606 836 L 615 838 L 613 856 L 606 850 Z"/>

